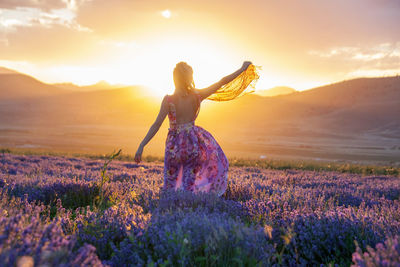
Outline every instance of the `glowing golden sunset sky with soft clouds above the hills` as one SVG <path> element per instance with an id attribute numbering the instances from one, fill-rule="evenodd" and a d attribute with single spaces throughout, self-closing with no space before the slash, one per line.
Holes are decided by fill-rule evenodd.
<path id="1" fill-rule="evenodd" d="M 262 66 L 258 89 L 400 74 L 399 0 L 0 0 L 0 66 L 45 82 L 173 90 Z"/>

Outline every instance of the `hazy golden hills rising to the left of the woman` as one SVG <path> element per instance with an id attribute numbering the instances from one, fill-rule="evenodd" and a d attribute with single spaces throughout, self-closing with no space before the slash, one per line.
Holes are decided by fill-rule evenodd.
<path id="1" fill-rule="evenodd" d="M 131 124 L 159 108 L 147 88 L 115 86 L 50 85 L 8 70 L 0 74 L 0 125 Z"/>

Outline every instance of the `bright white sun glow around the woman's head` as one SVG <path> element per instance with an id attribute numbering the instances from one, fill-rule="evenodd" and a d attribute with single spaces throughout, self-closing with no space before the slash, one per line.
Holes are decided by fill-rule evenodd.
<path id="1" fill-rule="evenodd" d="M 106 74 L 106 80 L 143 85 L 152 95 L 161 97 L 173 93 L 173 69 L 185 61 L 193 68 L 196 87 L 202 88 L 240 67 L 241 59 L 227 50 L 198 36 L 153 37 L 109 66 L 112 71 Z"/>

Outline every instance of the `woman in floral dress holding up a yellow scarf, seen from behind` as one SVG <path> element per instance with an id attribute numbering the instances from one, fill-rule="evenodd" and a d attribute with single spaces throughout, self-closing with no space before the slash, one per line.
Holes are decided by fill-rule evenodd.
<path id="1" fill-rule="evenodd" d="M 225 101 L 248 93 L 246 88 L 258 79 L 255 67 L 245 61 L 234 73 L 201 90 L 194 87 L 193 70 L 185 62 L 176 65 L 173 75 L 175 92 L 164 97 L 156 121 L 139 145 L 135 161 L 141 161 L 144 146 L 168 114 L 170 128 L 165 146 L 164 189 L 215 192 L 220 196 L 227 186 L 228 160 L 212 135 L 194 125 L 194 121 L 202 100 Z"/>

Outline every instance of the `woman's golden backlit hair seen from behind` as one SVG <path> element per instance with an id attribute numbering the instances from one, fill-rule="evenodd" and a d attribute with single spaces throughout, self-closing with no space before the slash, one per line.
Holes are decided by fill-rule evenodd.
<path id="1" fill-rule="evenodd" d="M 193 69 L 186 62 L 179 62 L 174 68 L 175 90 L 187 96 L 194 89 Z"/>

